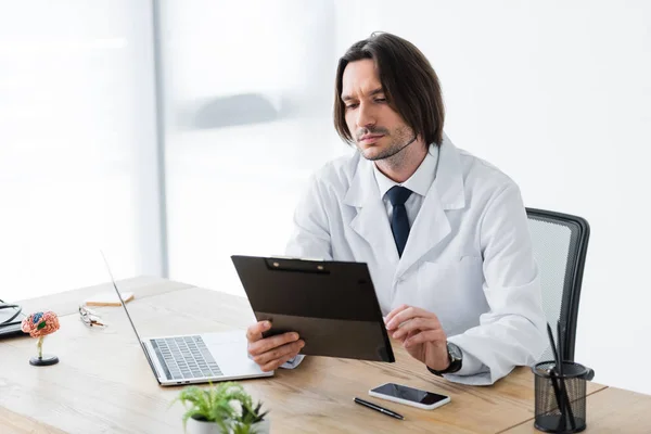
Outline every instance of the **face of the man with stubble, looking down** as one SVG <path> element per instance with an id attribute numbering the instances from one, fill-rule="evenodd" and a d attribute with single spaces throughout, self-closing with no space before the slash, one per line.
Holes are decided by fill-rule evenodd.
<path id="1" fill-rule="evenodd" d="M 413 139 L 412 129 L 388 106 L 372 60 L 346 65 L 341 98 L 346 125 L 365 158 L 388 158 Z"/>

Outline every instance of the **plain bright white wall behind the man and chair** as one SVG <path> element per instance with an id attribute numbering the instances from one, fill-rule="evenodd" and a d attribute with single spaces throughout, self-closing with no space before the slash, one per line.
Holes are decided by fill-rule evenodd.
<path id="1" fill-rule="evenodd" d="M 373 30 L 412 41 L 442 80 L 446 131 L 527 206 L 591 226 L 576 360 L 651 393 L 651 2 L 336 2 L 336 49 Z"/>

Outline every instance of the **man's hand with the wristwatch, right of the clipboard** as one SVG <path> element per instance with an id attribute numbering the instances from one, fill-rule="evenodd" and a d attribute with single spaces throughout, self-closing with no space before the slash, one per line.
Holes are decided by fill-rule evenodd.
<path id="1" fill-rule="evenodd" d="M 390 336 L 398 340 L 411 357 L 435 371 L 450 365 L 447 336 L 436 315 L 403 305 L 393 309 L 384 321 Z"/>

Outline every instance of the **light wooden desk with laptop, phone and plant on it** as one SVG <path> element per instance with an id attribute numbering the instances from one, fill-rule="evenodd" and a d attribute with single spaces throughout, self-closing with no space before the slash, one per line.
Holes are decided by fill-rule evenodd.
<path id="1" fill-rule="evenodd" d="M 244 330 L 254 321 L 242 297 L 157 278 L 118 284 L 136 294 L 129 311 L 142 335 Z M 105 284 L 22 302 L 26 312 L 52 309 L 60 315 L 61 330 L 46 337 L 44 352 L 56 354 L 61 362 L 31 367 L 28 359 L 36 353 L 36 340 L 0 341 L 2 433 L 182 432 L 182 407 L 169 407 L 180 386 L 158 386 L 124 311 L 98 308 L 110 323 L 106 329 L 90 329 L 79 320 L 78 303 L 110 290 Z M 394 352 L 396 363 L 309 357 L 298 369 L 242 383 L 271 410 L 275 433 L 535 431 L 534 382 L 527 368 L 489 387 L 463 386 L 430 374 L 400 346 L 394 345 Z M 387 381 L 441 392 L 452 400 L 425 411 L 367 395 Z M 596 383 L 588 385 L 588 393 L 587 432 L 649 432 L 651 414 L 641 409 L 651 408 L 651 397 Z M 393 408 L 406 420 L 355 405 L 354 396 Z"/>

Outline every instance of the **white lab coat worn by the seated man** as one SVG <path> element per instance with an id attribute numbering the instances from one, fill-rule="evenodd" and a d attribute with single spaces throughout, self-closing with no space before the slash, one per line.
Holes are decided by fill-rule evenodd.
<path id="1" fill-rule="evenodd" d="M 547 346 L 526 214 L 518 186 L 496 167 L 447 137 L 438 157 L 403 257 L 373 163 L 358 153 L 312 177 L 286 253 L 367 263 L 383 315 L 401 304 L 432 311 L 448 341 L 484 365 L 484 372 L 446 378 L 492 384 Z"/>

